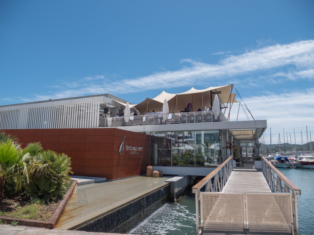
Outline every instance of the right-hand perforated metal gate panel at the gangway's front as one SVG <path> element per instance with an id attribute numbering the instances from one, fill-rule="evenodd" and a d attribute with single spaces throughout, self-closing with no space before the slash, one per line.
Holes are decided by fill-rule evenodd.
<path id="1" fill-rule="evenodd" d="M 246 193 L 249 232 L 292 233 L 291 195 Z"/>

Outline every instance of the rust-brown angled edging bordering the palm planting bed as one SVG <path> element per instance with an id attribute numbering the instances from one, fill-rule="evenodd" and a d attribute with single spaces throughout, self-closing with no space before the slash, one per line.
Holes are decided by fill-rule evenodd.
<path id="1" fill-rule="evenodd" d="M 44 227 L 44 228 L 53 228 L 55 227 L 56 223 L 58 222 L 65 206 L 67 205 L 69 199 L 71 198 L 76 185 L 76 180 L 73 180 L 72 186 L 69 188 L 68 192 L 63 196 L 62 201 L 60 202 L 59 206 L 57 207 L 56 211 L 53 213 L 51 218 L 48 221 L 43 220 L 34 220 L 34 219 L 22 219 L 22 218 L 13 218 L 13 217 L 4 217 L 0 216 L 0 219 L 6 221 L 8 224 L 13 222 L 14 220 L 19 222 L 19 225 L 24 226 L 31 226 L 31 227 Z"/>

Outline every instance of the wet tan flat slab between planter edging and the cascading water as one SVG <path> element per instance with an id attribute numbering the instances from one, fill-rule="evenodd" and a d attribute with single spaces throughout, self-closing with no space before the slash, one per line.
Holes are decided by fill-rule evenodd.
<path id="1" fill-rule="evenodd" d="M 163 187 L 171 177 L 137 176 L 123 180 L 79 185 L 65 207 L 55 228 L 76 229 L 106 215 L 137 198 Z"/>

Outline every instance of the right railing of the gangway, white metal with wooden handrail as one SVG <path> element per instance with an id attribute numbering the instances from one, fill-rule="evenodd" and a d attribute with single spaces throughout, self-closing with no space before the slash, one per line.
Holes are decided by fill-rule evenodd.
<path id="1" fill-rule="evenodd" d="M 284 176 L 284 174 L 282 174 L 264 157 L 262 157 L 262 171 L 272 192 L 291 194 L 293 210 L 293 227 L 295 234 L 299 235 L 297 195 L 301 195 L 300 188 L 297 187 L 294 183 L 292 183 L 286 176 Z"/>

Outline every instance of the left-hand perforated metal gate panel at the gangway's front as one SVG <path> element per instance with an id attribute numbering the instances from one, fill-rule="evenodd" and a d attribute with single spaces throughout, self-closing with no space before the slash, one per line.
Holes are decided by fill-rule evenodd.
<path id="1" fill-rule="evenodd" d="M 203 232 L 244 232 L 244 194 L 201 193 Z"/>

